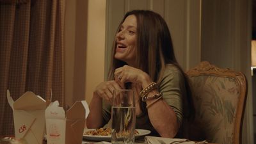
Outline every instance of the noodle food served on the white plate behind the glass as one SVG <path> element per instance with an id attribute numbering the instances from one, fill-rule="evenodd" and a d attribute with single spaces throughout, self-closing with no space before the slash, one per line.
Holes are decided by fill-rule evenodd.
<path id="1" fill-rule="evenodd" d="M 94 129 L 90 131 L 84 132 L 85 135 L 90 135 L 90 136 L 110 136 L 111 135 L 111 128 L 99 128 L 99 129 Z M 139 134 L 137 130 L 134 131 L 134 134 Z"/>

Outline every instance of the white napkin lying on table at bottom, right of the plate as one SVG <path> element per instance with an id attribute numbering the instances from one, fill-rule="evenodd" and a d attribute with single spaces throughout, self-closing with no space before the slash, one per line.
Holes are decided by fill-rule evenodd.
<path id="1" fill-rule="evenodd" d="M 195 141 L 189 141 L 188 139 L 180 139 L 180 138 L 161 138 L 156 136 L 145 136 L 145 141 L 147 141 L 148 144 L 204 144 L 207 143 L 207 141 L 198 141 L 195 143 Z"/>

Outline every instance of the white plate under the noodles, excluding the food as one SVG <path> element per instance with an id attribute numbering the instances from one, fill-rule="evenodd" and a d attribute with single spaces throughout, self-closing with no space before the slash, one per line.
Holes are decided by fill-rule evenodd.
<path id="1" fill-rule="evenodd" d="M 92 130 L 95 130 L 95 129 L 86 129 L 84 132 L 92 131 Z M 148 131 L 147 129 L 136 129 L 136 130 L 138 131 L 139 134 L 136 134 L 135 138 L 150 134 L 150 131 Z M 84 134 L 83 138 L 91 141 L 111 141 L 111 136 L 92 136 L 92 135 Z"/>

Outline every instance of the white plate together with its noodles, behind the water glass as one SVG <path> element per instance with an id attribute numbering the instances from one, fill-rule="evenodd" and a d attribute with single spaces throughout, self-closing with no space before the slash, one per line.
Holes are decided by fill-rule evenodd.
<path id="1" fill-rule="evenodd" d="M 150 134 L 146 129 L 135 129 L 135 138 Z M 111 141 L 111 128 L 84 129 L 83 139 L 91 141 Z"/>

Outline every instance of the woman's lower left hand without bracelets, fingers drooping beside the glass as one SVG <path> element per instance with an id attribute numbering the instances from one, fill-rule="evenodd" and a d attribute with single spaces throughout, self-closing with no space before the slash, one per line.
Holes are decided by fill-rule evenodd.
<path id="1" fill-rule="evenodd" d="M 116 81 L 104 81 L 100 83 L 94 90 L 93 96 L 105 99 L 112 104 L 113 91 L 115 89 L 122 89 Z"/>

